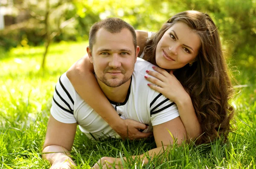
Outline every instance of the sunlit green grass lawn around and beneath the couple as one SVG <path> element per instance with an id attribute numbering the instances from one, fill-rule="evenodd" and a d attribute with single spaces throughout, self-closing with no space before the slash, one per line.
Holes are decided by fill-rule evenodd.
<path id="1" fill-rule="evenodd" d="M 43 47 L 13 48 L 0 53 L 0 169 L 44 169 L 41 158 L 52 94 L 59 76 L 86 52 L 86 42 L 53 44 L 45 72 L 39 70 Z M 256 168 L 256 75 L 255 65 L 237 60 L 232 63 L 241 85 L 233 104 L 236 116 L 229 141 L 200 146 L 174 145 L 169 154 L 154 158 L 147 165 L 128 161 L 126 168 Z M 129 157 L 154 148 L 154 140 L 90 141 L 79 130 L 71 154 L 78 168 L 90 168 L 103 156 Z M 135 164 L 136 163 L 136 164 Z"/>

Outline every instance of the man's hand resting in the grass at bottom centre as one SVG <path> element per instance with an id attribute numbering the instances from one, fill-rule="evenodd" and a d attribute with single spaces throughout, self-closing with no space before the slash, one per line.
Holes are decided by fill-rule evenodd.
<path id="1" fill-rule="evenodd" d="M 115 163 L 114 167 L 113 163 Z M 96 164 L 94 164 L 92 168 L 100 169 L 100 166 L 102 166 L 102 169 L 123 169 L 122 161 L 120 158 L 102 157 Z"/>

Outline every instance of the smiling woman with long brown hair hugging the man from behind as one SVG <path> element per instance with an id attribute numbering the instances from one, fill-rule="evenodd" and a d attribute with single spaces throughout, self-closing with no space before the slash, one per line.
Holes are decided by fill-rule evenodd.
<path id="1" fill-rule="evenodd" d="M 176 34 L 174 27 L 178 24 L 189 29 Z M 189 34 L 193 36 L 187 37 Z M 160 67 L 155 68 L 157 72 L 147 72 L 156 79 L 145 76 L 158 87 L 148 86 L 177 104 L 189 138 L 195 139 L 201 135 L 196 141 L 198 144 L 208 143 L 220 135 L 227 138 L 233 117 L 233 107 L 228 103 L 233 88 L 220 37 L 209 15 L 184 11 L 171 17 L 147 42 L 146 36 L 145 32 L 137 31 L 138 45 L 141 49 L 145 46 L 143 59 Z M 195 39 L 199 41 L 198 46 L 191 43 Z M 130 139 L 148 136 L 148 133 L 138 132 L 146 128 L 145 124 L 119 118 L 100 90 L 93 74 L 93 65 L 87 57 L 73 65 L 67 77 L 79 95 L 119 135 L 127 136 L 128 128 Z"/>

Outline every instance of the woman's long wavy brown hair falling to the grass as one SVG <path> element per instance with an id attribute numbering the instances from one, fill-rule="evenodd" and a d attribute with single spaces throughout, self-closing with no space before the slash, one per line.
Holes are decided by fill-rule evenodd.
<path id="1" fill-rule="evenodd" d="M 189 93 L 203 135 L 197 144 L 208 143 L 221 135 L 227 138 L 230 120 L 234 110 L 229 103 L 233 94 L 227 64 L 221 49 L 218 30 L 208 14 L 199 11 L 184 11 L 171 17 L 144 48 L 145 59 L 156 64 L 157 44 L 163 34 L 175 23 L 183 22 L 195 31 L 201 39 L 196 61 L 174 72 L 187 93 Z"/>

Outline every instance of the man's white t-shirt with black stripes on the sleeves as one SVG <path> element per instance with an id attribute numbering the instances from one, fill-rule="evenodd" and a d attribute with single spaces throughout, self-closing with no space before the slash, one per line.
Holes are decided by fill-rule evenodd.
<path id="1" fill-rule="evenodd" d="M 125 102 L 110 101 L 121 118 L 148 124 L 148 128 L 143 132 L 152 132 L 152 126 L 179 116 L 174 102 L 147 86 L 148 81 L 144 76 L 146 70 L 153 70 L 152 66 L 151 63 L 137 58 Z M 77 123 L 88 138 L 98 139 L 105 136 L 119 138 L 108 123 L 81 99 L 66 73 L 60 77 L 55 87 L 51 114 L 62 123 Z"/>

